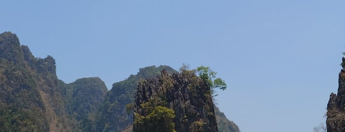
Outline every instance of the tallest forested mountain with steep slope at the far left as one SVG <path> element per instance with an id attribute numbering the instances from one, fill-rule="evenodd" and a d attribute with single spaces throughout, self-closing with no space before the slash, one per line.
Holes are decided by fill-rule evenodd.
<path id="1" fill-rule="evenodd" d="M 13 131 L 72 130 L 64 112 L 55 60 L 35 58 L 10 32 L 0 34 L 0 128 Z"/>

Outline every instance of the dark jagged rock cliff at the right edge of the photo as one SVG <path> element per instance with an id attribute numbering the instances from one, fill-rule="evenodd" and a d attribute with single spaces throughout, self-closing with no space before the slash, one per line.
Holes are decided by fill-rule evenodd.
<path id="1" fill-rule="evenodd" d="M 332 93 L 327 104 L 327 132 L 345 132 L 345 58 L 339 73 L 337 95 Z"/>

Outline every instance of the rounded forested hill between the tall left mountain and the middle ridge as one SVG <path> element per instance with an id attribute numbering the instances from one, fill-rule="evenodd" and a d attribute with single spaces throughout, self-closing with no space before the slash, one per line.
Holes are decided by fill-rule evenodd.
<path id="1" fill-rule="evenodd" d="M 71 115 L 83 132 L 94 132 L 98 107 L 103 102 L 107 87 L 98 77 L 81 78 L 67 85 Z"/>

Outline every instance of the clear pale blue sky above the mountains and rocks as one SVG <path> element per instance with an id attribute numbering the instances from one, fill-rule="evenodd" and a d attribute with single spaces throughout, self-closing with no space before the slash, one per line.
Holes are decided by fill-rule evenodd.
<path id="1" fill-rule="evenodd" d="M 210 66 L 242 132 L 312 132 L 337 92 L 344 0 L 6 0 L 0 32 L 108 89 L 145 66 Z"/>

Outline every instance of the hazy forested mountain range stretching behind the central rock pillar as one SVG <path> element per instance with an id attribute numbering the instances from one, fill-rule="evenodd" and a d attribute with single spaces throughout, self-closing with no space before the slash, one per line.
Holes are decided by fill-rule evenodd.
<path id="1" fill-rule="evenodd" d="M 98 77 L 66 84 L 56 76 L 51 56 L 35 58 L 14 33 L 0 34 L 1 132 L 121 132 L 131 131 L 134 97 L 140 82 L 169 66 L 140 68 L 136 75 L 107 91 Z M 239 132 L 225 116 L 218 116 L 220 132 Z M 220 117 L 220 118 L 218 118 Z M 224 126 L 226 129 L 221 129 Z M 126 130 L 125 130 L 126 129 Z M 223 131 L 221 131 L 223 130 Z"/>

